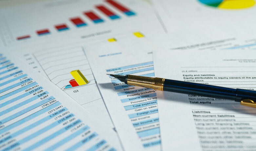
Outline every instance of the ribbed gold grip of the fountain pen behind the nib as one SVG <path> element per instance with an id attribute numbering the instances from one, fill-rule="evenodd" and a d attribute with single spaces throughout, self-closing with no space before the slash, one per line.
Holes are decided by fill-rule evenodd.
<path id="1" fill-rule="evenodd" d="M 164 78 L 128 75 L 127 84 L 163 91 Z"/>

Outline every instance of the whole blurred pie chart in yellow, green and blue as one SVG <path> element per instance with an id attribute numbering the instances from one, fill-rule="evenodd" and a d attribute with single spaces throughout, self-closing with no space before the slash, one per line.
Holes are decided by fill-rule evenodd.
<path id="1" fill-rule="evenodd" d="M 199 2 L 220 9 L 243 9 L 255 5 L 255 0 L 199 0 Z"/>

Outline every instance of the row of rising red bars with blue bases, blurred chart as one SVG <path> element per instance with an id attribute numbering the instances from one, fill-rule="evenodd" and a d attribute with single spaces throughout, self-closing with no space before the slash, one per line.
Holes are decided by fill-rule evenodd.
<path id="1" fill-rule="evenodd" d="M 110 21 L 111 20 L 116 20 L 116 19 L 121 19 L 120 15 L 116 14 L 111 9 L 116 9 L 115 11 L 119 11 L 121 13 L 124 13 L 128 17 L 136 15 L 135 12 L 133 12 L 128 7 L 124 6 L 123 4 L 121 4 L 117 1 L 105 0 L 104 2 L 107 5 L 111 6 L 112 8 L 107 7 L 106 4 L 96 4 L 96 5 L 94 5 L 94 8 L 96 10 L 98 10 L 100 13 L 102 13 L 104 16 L 107 16 L 110 19 Z M 103 18 L 101 18 L 100 15 L 97 14 L 94 10 L 85 10 L 81 14 L 83 14 L 85 17 L 87 17 L 91 21 L 91 23 L 93 23 L 93 24 L 104 23 L 106 21 Z M 86 23 L 79 16 L 81 14 L 77 14 L 78 16 L 76 16 L 76 17 L 69 17 L 69 18 L 67 18 L 66 21 L 71 22 L 77 28 L 86 27 L 89 24 L 91 24 L 91 23 Z M 53 26 L 58 32 L 71 30 L 70 27 L 68 27 L 68 25 L 66 23 L 62 23 L 62 24 L 61 23 L 56 23 Z M 47 27 L 44 28 L 44 29 L 38 29 L 35 32 L 36 32 L 37 36 L 40 36 L 40 37 L 51 34 L 49 28 L 47 28 Z M 32 34 L 20 35 L 20 36 L 16 37 L 16 40 L 17 41 L 27 40 L 27 39 L 32 37 L 31 35 Z"/>

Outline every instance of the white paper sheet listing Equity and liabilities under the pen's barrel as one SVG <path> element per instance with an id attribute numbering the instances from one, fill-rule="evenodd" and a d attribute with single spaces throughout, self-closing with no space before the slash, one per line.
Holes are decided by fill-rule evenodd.
<path id="1" fill-rule="evenodd" d="M 254 50 L 153 53 L 156 77 L 256 90 Z M 163 150 L 255 150 L 256 109 L 239 102 L 157 92 Z"/>

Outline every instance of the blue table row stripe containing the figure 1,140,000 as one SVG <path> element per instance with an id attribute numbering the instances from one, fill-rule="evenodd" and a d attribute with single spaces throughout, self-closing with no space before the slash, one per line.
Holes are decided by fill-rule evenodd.
<path id="1" fill-rule="evenodd" d="M 22 133 L 24 133 L 24 132 L 26 132 L 26 131 L 28 131 L 28 130 L 30 130 L 30 129 L 32 129 L 33 127 L 36 127 L 36 126 L 38 126 L 38 125 L 40 125 L 40 124 L 42 124 L 42 123 L 44 123 L 44 122 L 46 122 L 46 121 L 52 119 L 53 117 L 59 115 L 59 113 L 64 112 L 64 111 L 67 111 L 67 110 L 68 110 L 67 108 L 63 108 L 63 109 L 61 109 L 61 110 L 58 110 L 58 111 L 54 112 L 54 113 L 51 114 L 51 115 L 46 116 L 45 118 L 43 118 L 43 119 L 41 119 L 41 120 L 39 120 L 39 121 L 37 121 L 37 122 L 35 122 L 35 123 L 33 123 L 33 124 L 30 124 L 30 125 L 27 126 L 27 127 L 22 128 L 21 130 L 19 130 L 19 131 L 15 132 L 15 133 L 9 135 L 8 137 L 3 138 L 2 140 L 0 140 L 0 144 L 6 142 L 6 141 L 8 141 L 8 140 L 10 140 L 11 138 L 14 138 L 14 137 L 16 137 L 16 136 L 22 134 Z M 61 112 L 59 112 L 59 111 L 61 111 Z"/>

